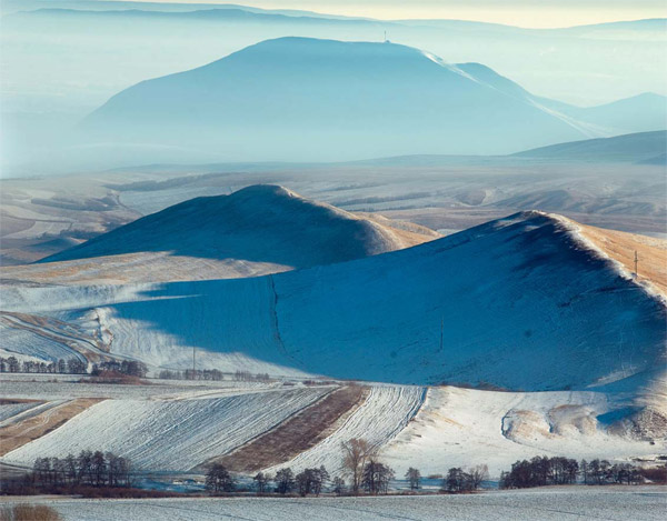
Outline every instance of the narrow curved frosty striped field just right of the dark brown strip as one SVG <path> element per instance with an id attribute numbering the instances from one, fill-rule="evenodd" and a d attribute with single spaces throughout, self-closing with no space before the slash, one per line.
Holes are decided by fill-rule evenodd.
<path id="1" fill-rule="evenodd" d="M 273 472 L 285 467 L 295 470 L 319 468 L 323 464 L 338 474 L 342 463 L 341 443 L 355 438 L 364 439 L 379 451 L 408 425 L 425 397 L 425 388 L 374 385 L 366 401 L 349 417 L 344 418 L 330 435 L 313 448 L 269 471 Z"/>

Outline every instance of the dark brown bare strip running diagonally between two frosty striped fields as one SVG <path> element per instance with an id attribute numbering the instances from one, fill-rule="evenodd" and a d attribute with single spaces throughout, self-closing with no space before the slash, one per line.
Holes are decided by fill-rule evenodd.
<path id="1" fill-rule="evenodd" d="M 237 472 L 255 472 L 289 461 L 334 432 L 340 420 L 364 403 L 368 392 L 369 389 L 361 385 L 337 389 L 276 429 L 230 454 L 208 461 L 203 467 L 208 463 L 222 463 Z"/>

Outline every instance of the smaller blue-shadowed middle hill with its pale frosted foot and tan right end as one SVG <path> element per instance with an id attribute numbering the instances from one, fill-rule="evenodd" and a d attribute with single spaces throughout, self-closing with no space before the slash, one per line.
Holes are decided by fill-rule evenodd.
<path id="1" fill-rule="evenodd" d="M 4 269 L 3 278 L 121 283 L 251 277 L 359 259 L 438 237 L 424 227 L 358 217 L 282 187 L 259 184 L 176 204 L 39 264 Z"/>

